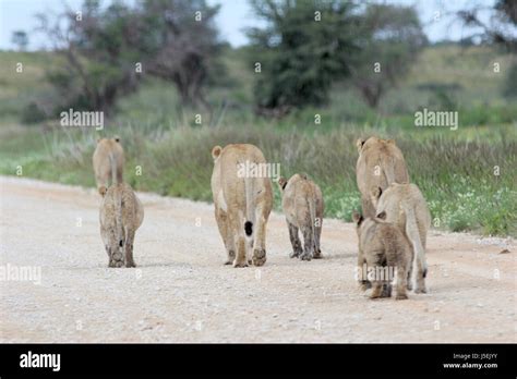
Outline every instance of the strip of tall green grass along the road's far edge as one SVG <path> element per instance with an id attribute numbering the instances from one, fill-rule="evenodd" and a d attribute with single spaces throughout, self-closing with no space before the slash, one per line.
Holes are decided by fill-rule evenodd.
<path id="1" fill-rule="evenodd" d="M 396 127 L 378 132 L 353 124 L 312 133 L 251 124 L 180 126 L 163 130 L 159 135 L 120 124 L 109 132 L 121 136 L 128 156 L 125 180 L 140 191 L 211 201 L 212 147 L 252 143 L 268 161 L 280 163 L 282 175 L 305 172 L 314 179 L 324 193 L 326 217 L 346 221 L 350 221 L 352 210 L 360 208 L 356 138 L 372 134 L 395 137 L 408 162 L 411 181 L 420 186 L 430 205 L 435 228 L 517 235 L 517 135 L 512 126 L 500 126 L 498 133 L 490 135 L 472 127 L 426 136 Z M 0 145 L 2 174 L 14 174 L 16 167 L 23 166 L 26 176 L 94 186 L 91 157 L 95 132 L 31 131 L 33 144 L 39 146 L 31 154 L 21 149 L 27 138 L 25 133 L 23 138 L 12 137 L 9 144 Z M 142 168 L 140 176 L 136 166 Z M 495 166 L 500 167 L 498 176 L 494 175 Z M 275 193 L 278 209 L 276 188 Z"/>

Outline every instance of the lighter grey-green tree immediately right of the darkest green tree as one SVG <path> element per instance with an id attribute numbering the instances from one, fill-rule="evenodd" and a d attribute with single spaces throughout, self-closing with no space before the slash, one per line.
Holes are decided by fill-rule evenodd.
<path id="1" fill-rule="evenodd" d="M 414 9 L 373 3 L 364 11 L 360 36 L 351 82 L 375 108 L 407 74 L 426 38 Z"/>

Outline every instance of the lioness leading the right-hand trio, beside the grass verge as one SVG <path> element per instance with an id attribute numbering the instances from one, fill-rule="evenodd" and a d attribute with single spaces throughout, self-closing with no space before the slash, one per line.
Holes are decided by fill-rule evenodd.
<path id="1" fill-rule="evenodd" d="M 356 176 L 361 192 L 362 212 L 364 217 L 375 217 L 375 209 L 370 199 L 372 187 L 386 188 L 392 183 L 409 183 L 409 174 L 402 152 L 393 139 L 370 137 L 358 139 L 359 158 Z"/>

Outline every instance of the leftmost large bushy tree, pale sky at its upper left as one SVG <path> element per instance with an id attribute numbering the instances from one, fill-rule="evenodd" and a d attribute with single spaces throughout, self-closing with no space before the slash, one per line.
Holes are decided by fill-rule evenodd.
<path id="1" fill-rule="evenodd" d="M 64 57 L 47 72 L 61 98 L 56 113 L 74 108 L 109 114 L 121 95 L 137 88 L 141 36 L 132 33 L 139 19 L 128 5 L 115 1 L 103 10 L 98 0 L 86 0 L 80 12 L 67 9 L 53 17 L 37 17 L 39 30 Z"/>

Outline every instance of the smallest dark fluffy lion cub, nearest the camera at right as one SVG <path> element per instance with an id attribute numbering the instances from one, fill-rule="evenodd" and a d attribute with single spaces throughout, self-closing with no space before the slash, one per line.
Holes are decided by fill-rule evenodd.
<path id="1" fill-rule="evenodd" d="M 371 298 L 390 296 L 390 282 L 395 269 L 396 299 L 408 298 L 408 273 L 412 260 L 409 241 L 394 224 L 380 219 L 364 219 L 358 212 L 352 215 L 359 239 L 359 261 L 365 261 L 372 282 Z M 363 270 L 363 267 L 359 267 Z M 373 274 L 372 274 L 373 273 Z M 383 293 L 383 286 L 388 288 Z"/>

